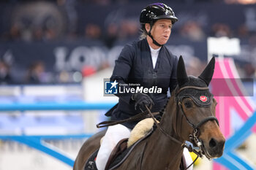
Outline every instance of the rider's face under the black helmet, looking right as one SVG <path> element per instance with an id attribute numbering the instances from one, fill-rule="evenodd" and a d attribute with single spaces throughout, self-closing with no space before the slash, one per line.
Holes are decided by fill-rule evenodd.
<path id="1" fill-rule="evenodd" d="M 154 23 L 154 26 L 152 27 L 151 35 L 160 45 L 165 45 L 165 43 L 168 41 L 170 37 L 172 26 L 173 24 L 171 20 L 157 20 L 157 22 Z"/>

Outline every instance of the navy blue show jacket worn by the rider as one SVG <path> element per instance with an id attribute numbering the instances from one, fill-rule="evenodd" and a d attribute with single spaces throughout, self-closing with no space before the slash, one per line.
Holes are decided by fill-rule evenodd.
<path id="1" fill-rule="evenodd" d="M 162 88 L 162 93 L 147 93 L 154 101 L 151 112 L 159 112 L 167 102 L 167 90 L 170 92 L 176 88 L 176 69 L 178 58 L 170 53 L 163 45 L 159 51 L 157 63 L 153 67 L 151 51 L 146 39 L 133 42 L 132 45 L 125 45 L 121 51 L 111 81 L 129 86 L 139 84 L 143 88 Z M 132 93 L 117 94 L 119 101 L 116 109 L 111 113 L 111 120 L 124 120 L 140 113 L 140 109 L 135 110 L 135 101 L 132 101 Z M 122 123 L 127 128 L 134 128 L 138 121 Z"/>

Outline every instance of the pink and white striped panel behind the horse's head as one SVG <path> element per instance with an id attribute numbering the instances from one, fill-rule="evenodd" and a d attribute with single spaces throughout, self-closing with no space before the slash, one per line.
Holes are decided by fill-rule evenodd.
<path id="1" fill-rule="evenodd" d="M 214 77 L 211 81 L 211 92 L 214 94 L 214 98 L 217 99 L 216 114 L 220 129 L 227 139 L 234 133 L 230 123 L 231 109 L 235 109 L 239 117 L 246 121 L 248 117 L 252 116 L 255 104 L 246 95 L 233 58 L 216 59 Z M 256 132 L 256 127 L 254 132 Z M 214 163 L 213 169 L 226 170 L 224 166 L 218 163 Z"/>

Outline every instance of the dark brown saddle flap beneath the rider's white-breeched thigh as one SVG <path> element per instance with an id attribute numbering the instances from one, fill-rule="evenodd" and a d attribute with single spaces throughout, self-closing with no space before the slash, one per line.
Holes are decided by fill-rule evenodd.
<path id="1" fill-rule="evenodd" d="M 116 157 L 118 157 L 118 155 L 120 155 L 122 152 L 124 152 L 124 150 L 127 149 L 127 142 L 128 138 L 124 138 L 121 139 L 121 141 L 119 141 L 118 144 L 116 144 L 116 147 L 112 150 L 110 157 L 108 158 L 105 170 L 108 170 L 109 166 L 111 165 L 111 163 L 113 163 Z"/>

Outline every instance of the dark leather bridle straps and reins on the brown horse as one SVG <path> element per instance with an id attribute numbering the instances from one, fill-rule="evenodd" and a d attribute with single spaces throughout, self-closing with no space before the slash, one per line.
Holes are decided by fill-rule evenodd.
<path id="1" fill-rule="evenodd" d="M 178 93 L 180 93 L 182 90 L 184 89 L 196 89 L 196 90 L 209 90 L 209 88 L 201 88 L 201 87 L 197 87 L 197 86 L 186 86 L 184 88 L 180 88 L 178 90 L 178 92 L 176 93 L 176 96 L 178 96 Z M 173 136 L 170 136 L 170 134 L 167 134 L 157 123 L 157 120 L 154 118 L 154 115 L 151 113 L 150 109 L 148 109 L 148 107 L 146 107 L 146 109 L 148 110 L 148 113 L 151 115 L 151 117 L 154 120 L 154 123 L 157 125 L 157 128 L 159 128 L 159 130 L 162 132 L 162 134 L 165 134 L 167 137 L 169 137 L 171 140 L 173 140 L 174 142 L 181 144 L 181 147 L 187 147 L 187 149 L 189 150 L 189 152 L 195 152 L 195 154 L 197 155 L 197 158 L 203 157 L 203 144 L 200 141 L 199 136 L 200 136 L 200 126 L 203 125 L 204 123 L 211 121 L 211 120 L 215 120 L 216 123 L 219 125 L 219 121 L 217 120 L 217 117 L 215 116 L 209 116 L 204 118 L 203 120 L 201 120 L 199 123 L 197 123 L 196 125 L 194 125 L 193 123 L 191 123 L 191 121 L 188 119 L 187 115 L 184 112 L 184 109 L 182 107 L 181 101 L 178 101 L 178 107 L 181 108 L 181 112 L 184 115 L 184 117 L 187 120 L 187 123 L 193 128 L 193 132 L 192 134 L 189 134 L 189 139 L 193 142 L 193 144 L 195 144 L 194 147 L 192 147 L 191 145 L 187 144 L 186 142 L 181 142 L 179 139 L 176 139 Z M 177 110 L 178 112 L 178 110 Z M 197 147 L 197 149 L 195 149 Z M 197 158 L 195 159 L 195 161 L 197 161 Z M 206 155 L 206 158 L 208 158 L 208 156 Z M 208 158 L 210 160 L 210 158 Z M 192 166 L 192 164 L 195 163 L 195 161 L 193 161 L 188 167 L 187 169 L 189 169 L 190 166 Z M 170 165 L 170 164 L 169 164 Z"/>

